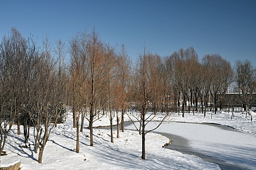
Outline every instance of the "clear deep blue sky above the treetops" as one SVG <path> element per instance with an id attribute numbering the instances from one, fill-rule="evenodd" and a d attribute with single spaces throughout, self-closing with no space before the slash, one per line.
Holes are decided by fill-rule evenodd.
<path id="1" fill-rule="evenodd" d="M 0 0 L 0 38 L 16 27 L 38 44 L 46 34 L 68 44 L 93 25 L 104 42 L 124 43 L 134 61 L 146 42 L 161 56 L 192 46 L 199 58 L 219 53 L 232 65 L 256 66 L 256 0 Z"/>

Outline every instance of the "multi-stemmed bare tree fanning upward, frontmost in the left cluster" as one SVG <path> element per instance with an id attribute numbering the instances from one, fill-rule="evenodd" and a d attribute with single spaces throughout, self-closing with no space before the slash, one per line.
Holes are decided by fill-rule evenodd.
<path id="1" fill-rule="evenodd" d="M 60 98 L 64 93 L 64 83 L 59 82 L 58 71 L 56 71 L 55 67 L 56 62 L 51 55 L 50 49 L 51 45 L 46 36 L 43 41 L 40 61 L 33 71 L 34 81 L 31 82 L 28 88 L 30 94 L 29 105 L 32 106 L 32 109 L 27 108 L 27 111 L 37 129 L 35 133 L 35 152 L 37 152 L 37 148 L 40 149 L 39 163 L 42 163 L 45 145 L 49 139 L 51 130 L 54 128 L 64 108 L 64 98 Z"/>

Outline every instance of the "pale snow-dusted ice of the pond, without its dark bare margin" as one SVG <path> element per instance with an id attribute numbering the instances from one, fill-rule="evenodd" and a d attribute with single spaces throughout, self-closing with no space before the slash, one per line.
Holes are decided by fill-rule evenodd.
<path id="1" fill-rule="evenodd" d="M 152 129 L 156 124 L 157 122 L 151 122 L 146 129 Z M 132 124 L 127 128 L 134 129 Z M 207 124 L 183 122 L 165 122 L 155 132 L 181 136 L 189 141 L 187 147 L 196 153 L 208 155 L 243 169 L 256 170 L 255 134 L 228 131 Z"/>

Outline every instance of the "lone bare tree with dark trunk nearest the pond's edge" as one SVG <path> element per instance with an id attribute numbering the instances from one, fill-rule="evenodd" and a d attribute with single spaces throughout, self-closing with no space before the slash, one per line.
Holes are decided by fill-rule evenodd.
<path id="1" fill-rule="evenodd" d="M 156 66 L 153 64 L 154 61 L 157 61 L 157 60 L 151 60 L 149 53 L 146 51 L 146 47 L 144 47 L 144 51 L 139 55 L 137 67 L 135 69 L 135 76 L 134 76 L 137 79 L 136 82 L 134 82 L 135 88 L 137 89 L 134 96 L 135 96 L 135 101 L 137 102 L 136 105 L 138 105 L 138 109 L 140 112 L 138 117 L 136 116 L 134 117 L 140 122 L 140 128 L 142 130 L 142 133 L 141 133 L 142 134 L 142 156 L 141 156 L 142 159 L 146 158 L 145 135 L 157 129 L 168 116 L 168 113 L 166 113 L 164 118 L 158 123 L 158 125 L 156 125 L 155 128 L 149 131 L 145 130 L 146 125 L 156 117 L 156 114 L 154 114 L 153 112 L 149 113 L 150 108 L 152 108 L 151 99 L 152 99 L 152 96 L 154 96 L 153 94 L 151 94 L 154 91 L 149 86 L 150 84 L 149 82 L 150 80 L 152 80 L 151 78 L 153 76 L 152 72 L 150 73 L 150 70 L 156 70 L 156 72 L 154 72 L 156 74 L 158 72 L 157 69 L 152 68 Z M 166 89 L 166 91 L 167 90 L 168 89 Z M 162 97 L 160 97 L 160 99 L 165 99 L 166 94 L 162 93 L 161 95 Z M 162 106 L 163 102 L 164 101 L 160 100 L 160 103 L 158 103 L 158 106 Z M 159 107 L 158 110 L 160 108 L 161 107 Z M 140 132 L 140 130 L 137 127 L 136 129 Z"/>

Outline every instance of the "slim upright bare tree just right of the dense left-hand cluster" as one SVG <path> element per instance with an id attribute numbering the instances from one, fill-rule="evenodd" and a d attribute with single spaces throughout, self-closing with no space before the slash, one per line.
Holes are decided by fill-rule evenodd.
<path id="1" fill-rule="evenodd" d="M 73 120 L 74 126 L 77 131 L 76 139 L 76 153 L 79 153 L 79 119 L 82 115 L 81 130 L 83 131 L 84 123 L 84 110 L 87 109 L 86 101 L 86 88 L 87 88 L 87 67 L 86 67 L 86 37 L 85 33 L 79 34 L 70 42 L 70 75 L 71 75 L 71 96 L 73 107 Z M 84 109 L 83 109 L 84 108 Z"/>

